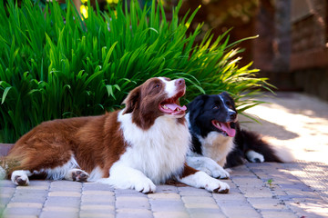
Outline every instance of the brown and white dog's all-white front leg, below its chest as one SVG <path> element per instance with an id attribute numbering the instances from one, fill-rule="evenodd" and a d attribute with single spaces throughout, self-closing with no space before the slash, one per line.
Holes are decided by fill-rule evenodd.
<path id="1" fill-rule="evenodd" d="M 97 183 L 108 183 L 114 188 L 135 189 L 140 193 L 155 193 L 155 184 L 141 171 L 114 163 L 109 171 L 109 177 L 97 180 Z"/>

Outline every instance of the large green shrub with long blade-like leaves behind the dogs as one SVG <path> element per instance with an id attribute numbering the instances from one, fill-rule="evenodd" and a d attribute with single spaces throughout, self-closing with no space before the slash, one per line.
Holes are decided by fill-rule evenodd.
<path id="1" fill-rule="evenodd" d="M 45 8 L 29 0 L 0 6 L 0 138 L 14 143 L 36 124 L 71 116 L 103 114 L 121 107 L 128 92 L 153 76 L 185 78 L 186 103 L 201 93 L 228 91 L 239 110 L 259 104 L 251 97 L 264 78 L 250 65 L 239 67 L 239 42 L 187 30 L 197 10 L 168 21 L 161 5 L 118 5 L 103 14 L 88 5 L 87 19 L 67 3 Z M 0 4 L 4 5 L 3 0 Z M 242 39 L 245 40 L 245 39 Z M 242 98 L 242 99 L 241 99 Z"/>

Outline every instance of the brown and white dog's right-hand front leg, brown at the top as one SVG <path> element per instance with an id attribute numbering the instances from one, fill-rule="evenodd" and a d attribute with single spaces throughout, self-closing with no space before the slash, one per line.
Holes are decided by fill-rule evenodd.
<path id="1" fill-rule="evenodd" d="M 207 173 L 197 171 L 185 163 L 182 175 L 177 176 L 181 183 L 186 183 L 196 188 L 205 188 L 212 193 L 228 193 L 229 185 L 210 177 Z"/>

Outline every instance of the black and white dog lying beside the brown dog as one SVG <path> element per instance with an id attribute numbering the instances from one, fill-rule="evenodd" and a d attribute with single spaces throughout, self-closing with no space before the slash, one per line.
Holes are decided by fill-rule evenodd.
<path id="1" fill-rule="evenodd" d="M 187 163 L 215 178 L 227 178 L 223 167 L 279 162 L 269 144 L 258 134 L 242 130 L 233 99 L 226 92 L 203 94 L 188 104 L 192 145 Z"/>

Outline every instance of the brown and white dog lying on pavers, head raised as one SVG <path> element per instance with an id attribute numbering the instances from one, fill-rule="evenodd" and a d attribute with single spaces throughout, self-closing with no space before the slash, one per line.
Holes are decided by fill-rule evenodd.
<path id="1" fill-rule="evenodd" d="M 9 177 L 27 185 L 29 176 L 94 181 L 120 189 L 154 193 L 155 184 L 175 178 L 214 193 L 229 185 L 188 166 L 190 133 L 183 79 L 158 77 L 133 89 L 125 109 L 100 116 L 54 120 L 23 135 L 7 159 L 17 165 Z"/>

